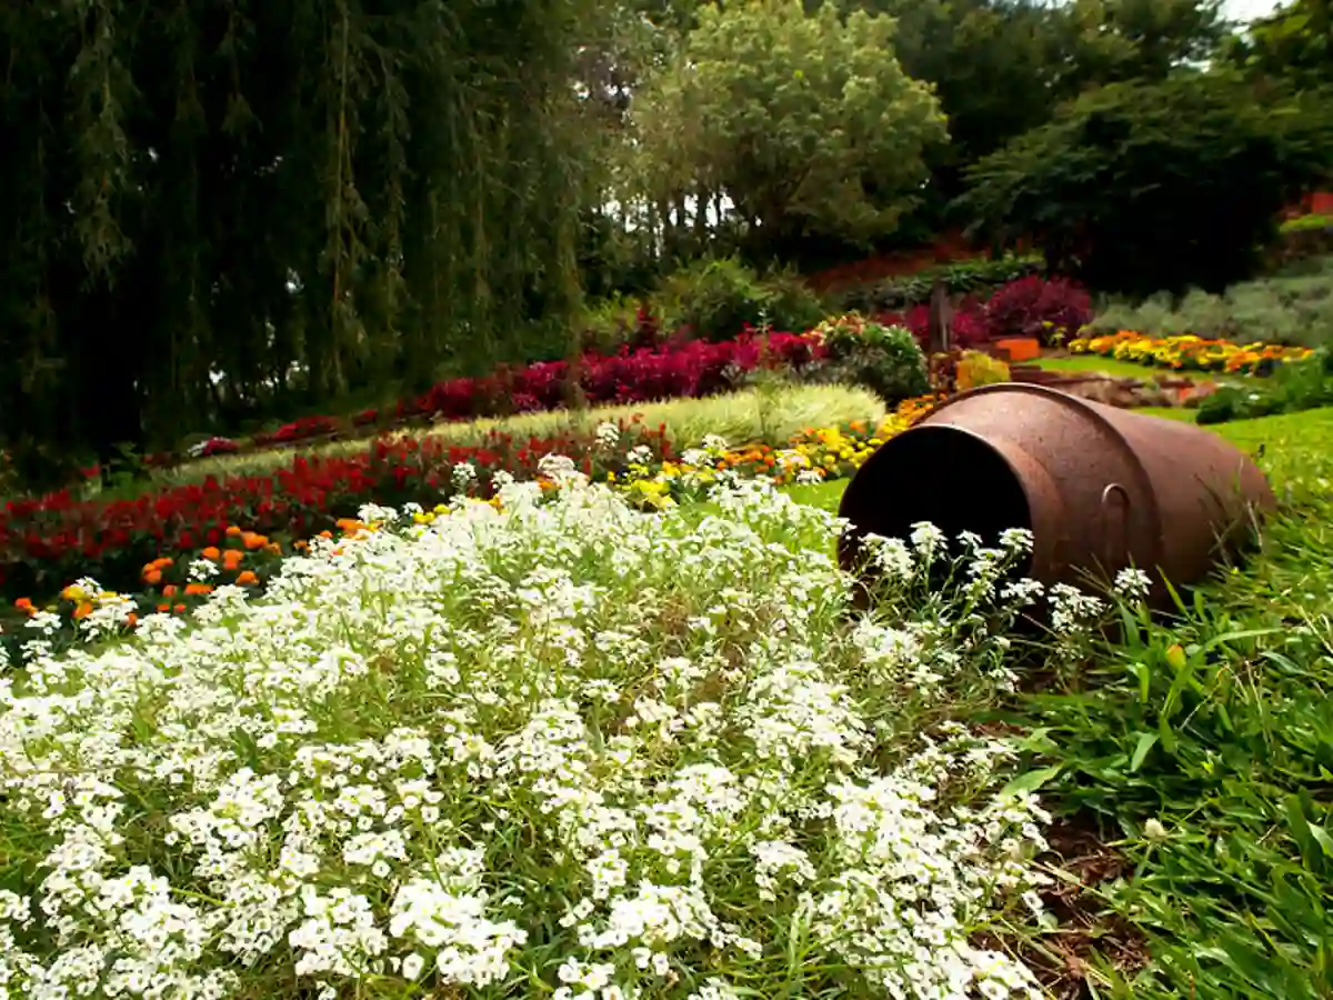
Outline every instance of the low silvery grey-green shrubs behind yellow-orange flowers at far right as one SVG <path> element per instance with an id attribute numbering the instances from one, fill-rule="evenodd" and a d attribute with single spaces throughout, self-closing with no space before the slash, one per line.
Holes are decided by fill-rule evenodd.
<path id="1" fill-rule="evenodd" d="M 1333 257 L 1244 281 L 1224 295 L 1194 289 L 1178 300 L 1166 293 L 1141 303 L 1112 300 L 1097 311 L 1089 329 L 1132 329 L 1148 336 L 1193 333 L 1244 344 L 1333 344 Z"/>

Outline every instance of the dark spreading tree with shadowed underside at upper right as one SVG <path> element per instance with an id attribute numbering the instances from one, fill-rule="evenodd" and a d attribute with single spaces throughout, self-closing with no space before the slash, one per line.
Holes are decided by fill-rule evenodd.
<path id="1" fill-rule="evenodd" d="M 1221 291 L 1333 164 L 1333 113 L 1222 72 L 1092 91 L 981 160 L 960 200 L 1100 291 Z"/>

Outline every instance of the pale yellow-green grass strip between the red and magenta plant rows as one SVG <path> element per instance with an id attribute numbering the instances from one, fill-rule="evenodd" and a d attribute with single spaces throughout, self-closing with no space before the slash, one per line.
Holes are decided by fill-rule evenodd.
<path id="1" fill-rule="evenodd" d="M 806 428 L 836 427 L 853 420 L 876 421 L 885 405 L 868 389 L 844 385 L 797 385 L 757 388 L 706 399 L 680 399 L 639 403 L 624 407 L 596 407 L 587 411 L 524 413 L 503 420 L 472 420 L 433 424 L 404 431 L 404 435 L 435 437 L 457 445 L 479 445 L 497 433 L 527 437 L 588 435 L 607 421 L 639 419 L 645 427 L 665 425 L 677 449 L 698 444 L 708 435 L 729 444 L 764 443 L 784 445 Z M 331 441 L 291 448 L 275 448 L 251 455 L 200 459 L 161 472 L 165 484 L 197 483 L 208 476 L 267 475 L 289 465 L 297 455 L 336 457 L 364 452 L 367 439 Z"/>

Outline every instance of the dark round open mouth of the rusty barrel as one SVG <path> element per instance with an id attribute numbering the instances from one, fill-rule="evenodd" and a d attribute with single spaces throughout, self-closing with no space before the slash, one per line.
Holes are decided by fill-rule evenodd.
<path id="1" fill-rule="evenodd" d="M 885 441 L 848 484 L 838 513 L 854 525 L 838 547 L 846 569 L 858 568 L 861 535 L 905 540 L 918 521 L 940 528 L 954 555 L 965 531 L 993 545 L 1009 528 L 1032 529 L 1013 467 L 985 439 L 948 425 L 918 425 Z M 1025 561 L 1014 572 L 1029 568 Z"/>

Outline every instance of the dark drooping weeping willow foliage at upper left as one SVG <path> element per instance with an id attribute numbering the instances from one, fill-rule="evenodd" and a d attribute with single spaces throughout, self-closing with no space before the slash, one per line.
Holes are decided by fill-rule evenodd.
<path id="1" fill-rule="evenodd" d="M 0 445 L 37 472 L 559 327 L 584 8 L 0 4 Z"/>

